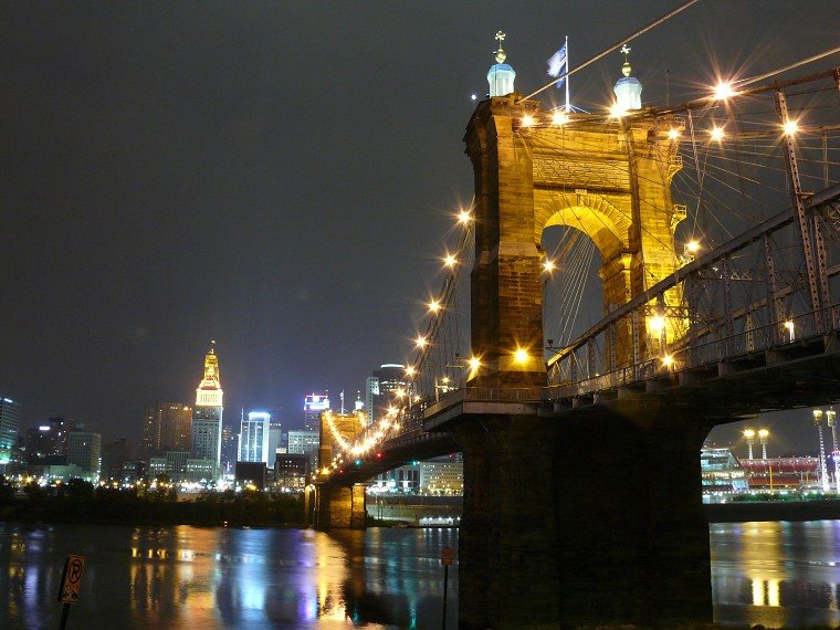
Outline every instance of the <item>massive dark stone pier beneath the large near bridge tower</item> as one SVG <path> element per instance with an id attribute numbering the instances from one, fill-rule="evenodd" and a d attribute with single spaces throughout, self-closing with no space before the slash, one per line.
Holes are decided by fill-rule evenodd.
<path id="1" fill-rule="evenodd" d="M 470 416 L 452 430 L 464 452 L 462 628 L 712 621 L 706 424 L 601 409 Z"/>

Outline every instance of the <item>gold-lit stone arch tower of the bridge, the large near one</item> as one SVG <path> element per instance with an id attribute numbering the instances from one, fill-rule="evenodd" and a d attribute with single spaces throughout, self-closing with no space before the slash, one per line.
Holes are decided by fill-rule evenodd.
<path id="1" fill-rule="evenodd" d="M 525 116 L 534 124 L 525 124 Z M 680 265 L 674 229 L 684 211 L 674 209 L 670 183 L 681 162 L 676 140 L 669 138 L 679 120 L 643 112 L 609 120 L 574 114 L 561 126 L 550 120 L 538 102 L 514 93 L 482 102 L 466 128 L 476 197 L 472 351 L 487 366 L 473 385 L 545 384 L 545 228 L 575 228 L 598 248 L 605 314 Z M 676 288 L 651 304 L 640 323 L 642 351 L 659 351 L 662 342 L 680 335 L 683 322 L 666 309 L 680 298 Z M 652 325 L 657 312 L 670 315 L 664 332 Z M 629 364 L 630 323 L 616 334 L 616 364 Z M 528 350 L 526 363 L 516 360 L 517 348 Z"/>

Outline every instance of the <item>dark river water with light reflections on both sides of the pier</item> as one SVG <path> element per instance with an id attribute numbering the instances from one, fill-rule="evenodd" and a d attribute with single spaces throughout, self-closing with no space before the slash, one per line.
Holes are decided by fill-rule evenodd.
<path id="1" fill-rule="evenodd" d="M 840 521 L 710 534 L 715 621 L 840 624 Z M 87 563 L 69 628 L 440 628 L 447 546 L 455 529 L 0 524 L 0 628 L 57 628 L 67 554 Z M 456 628 L 456 566 L 448 612 Z"/>

